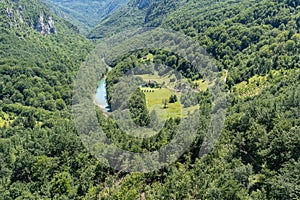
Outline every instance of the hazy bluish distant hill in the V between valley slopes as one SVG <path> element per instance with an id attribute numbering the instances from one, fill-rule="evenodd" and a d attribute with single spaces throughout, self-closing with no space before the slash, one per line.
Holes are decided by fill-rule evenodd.
<path id="1" fill-rule="evenodd" d="M 60 16 L 79 27 L 82 33 L 124 6 L 128 0 L 42 0 Z"/>

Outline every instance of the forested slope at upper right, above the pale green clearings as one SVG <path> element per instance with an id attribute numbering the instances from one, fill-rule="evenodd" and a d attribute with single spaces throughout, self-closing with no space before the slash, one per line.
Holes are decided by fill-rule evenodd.
<path id="1" fill-rule="evenodd" d="M 230 69 L 229 85 L 255 74 L 265 75 L 271 69 L 299 67 L 300 13 L 296 1 L 220 1 L 216 6 L 192 9 L 197 5 L 169 15 L 163 27 L 199 41 L 220 68 Z"/>

